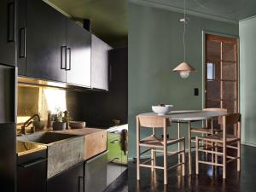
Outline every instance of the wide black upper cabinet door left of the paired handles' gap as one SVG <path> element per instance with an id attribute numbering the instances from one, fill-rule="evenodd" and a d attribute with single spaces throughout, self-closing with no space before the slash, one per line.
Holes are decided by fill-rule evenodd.
<path id="1" fill-rule="evenodd" d="M 66 17 L 42 0 L 27 0 L 26 26 L 19 30 L 19 56 L 26 58 L 26 76 L 66 82 L 62 69 Z"/>

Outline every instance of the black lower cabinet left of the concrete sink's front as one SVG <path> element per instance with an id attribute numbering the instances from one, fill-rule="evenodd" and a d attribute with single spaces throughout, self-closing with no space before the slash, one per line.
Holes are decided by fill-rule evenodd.
<path id="1" fill-rule="evenodd" d="M 18 157 L 17 192 L 46 192 L 46 157 L 46 149 Z"/>

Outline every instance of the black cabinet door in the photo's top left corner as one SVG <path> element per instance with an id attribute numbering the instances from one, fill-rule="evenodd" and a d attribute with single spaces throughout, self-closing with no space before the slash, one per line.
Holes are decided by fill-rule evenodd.
<path id="1" fill-rule="evenodd" d="M 0 63 L 5 65 L 16 64 L 15 28 L 16 28 L 15 0 L 0 1 Z"/>

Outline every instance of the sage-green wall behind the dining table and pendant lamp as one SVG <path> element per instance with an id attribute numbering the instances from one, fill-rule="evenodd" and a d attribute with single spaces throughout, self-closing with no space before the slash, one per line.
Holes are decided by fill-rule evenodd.
<path id="1" fill-rule="evenodd" d="M 187 61 L 197 72 L 181 79 L 172 69 L 183 61 L 182 14 L 129 3 L 129 156 L 136 156 L 136 115 L 158 103 L 174 109 L 202 108 L 202 31 L 238 35 L 238 24 L 189 16 Z M 194 88 L 200 96 L 194 96 Z M 173 126 L 174 128 L 176 125 Z M 176 129 L 171 135 L 176 136 Z M 143 135 L 147 134 L 143 132 Z M 182 128 L 187 136 L 186 128 Z"/>

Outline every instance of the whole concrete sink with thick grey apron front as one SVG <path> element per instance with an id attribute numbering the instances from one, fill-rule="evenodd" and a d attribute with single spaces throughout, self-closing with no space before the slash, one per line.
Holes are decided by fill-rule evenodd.
<path id="1" fill-rule="evenodd" d="M 84 160 L 84 137 L 56 132 L 36 132 L 17 137 L 17 141 L 38 143 L 47 147 L 47 178 Z"/>

